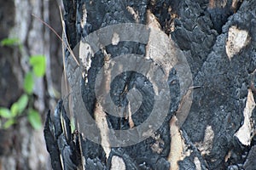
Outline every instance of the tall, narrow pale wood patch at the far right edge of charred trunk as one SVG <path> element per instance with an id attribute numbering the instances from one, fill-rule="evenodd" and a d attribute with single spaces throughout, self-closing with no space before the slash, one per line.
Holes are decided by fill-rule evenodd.
<path id="1" fill-rule="evenodd" d="M 253 109 L 255 108 L 255 101 L 253 99 L 253 92 L 249 88 L 247 94 L 247 104 L 243 110 L 244 122 L 239 130 L 235 133 L 235 136 L 241 144 L 250 145 L 253 135 L 253 121 L 251 120 Z"/>

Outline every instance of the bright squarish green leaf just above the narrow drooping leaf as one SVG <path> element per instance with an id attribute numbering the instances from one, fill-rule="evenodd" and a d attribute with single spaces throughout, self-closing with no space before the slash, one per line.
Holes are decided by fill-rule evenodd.
<path id="1" fill-rule="evenodd" d="M 30 65 L 32 65 L 33 72 L 37 77 L 44 77 L 46 69 L 46 59 L 44 55 L 33 55 L 29 59 Z"/>

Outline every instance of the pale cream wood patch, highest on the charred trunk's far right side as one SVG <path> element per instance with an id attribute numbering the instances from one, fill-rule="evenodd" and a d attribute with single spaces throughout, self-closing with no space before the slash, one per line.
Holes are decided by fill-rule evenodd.
<path id="1" fill-rule="evenodd" d="M 244 48 L 250 40 L 248 31 L 239 30 L 236 26 L 231 26 L 228 32 L 228 40 L 226 42 L 226 54 L 231 59 L 238 54 L 241 48 Z"/>

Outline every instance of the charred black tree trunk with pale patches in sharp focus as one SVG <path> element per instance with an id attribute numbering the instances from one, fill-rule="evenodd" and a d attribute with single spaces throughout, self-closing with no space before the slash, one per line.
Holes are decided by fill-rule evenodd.
<path id="1" fill-rule="evenodd" d="M 63 4 L 78 131 L 60 101 L 44 127 L 54 169 L 256 168 L 255 1 Z"/>

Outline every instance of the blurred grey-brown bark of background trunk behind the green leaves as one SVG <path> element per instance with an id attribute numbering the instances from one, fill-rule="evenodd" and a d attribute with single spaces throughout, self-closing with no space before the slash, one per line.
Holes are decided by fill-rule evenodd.
<path id="1" fill-rule="evenodd" d="M 56 43 L 55 35 L 32 14 L 60 32 L 60 17 L 56 17 L 58 5 L 56 1 L 29 0 L 1 0 L 0 4 L 0 40 L 18 38 L 22 45 L 21 50 L 17 46 L 0 47 L 0 106 L 10 107 L 24 93 L 23 81 L 30 69 L 29 56 L 44 54 L 47 58 L 46 76 L 35 80 L 30 99 L 30 104 L 44 120 L 45 113 L 55 105 L 53 88 L 61 91 L 61 42 Z M 43 129 L 34 130 L 25 115 L 9 129 L 0 129 L 0 169 L 51 169 Z"/>

